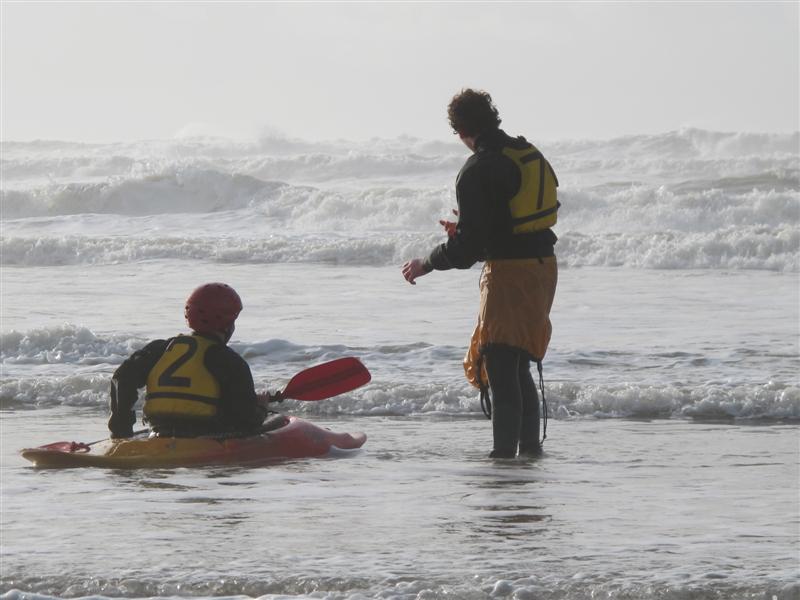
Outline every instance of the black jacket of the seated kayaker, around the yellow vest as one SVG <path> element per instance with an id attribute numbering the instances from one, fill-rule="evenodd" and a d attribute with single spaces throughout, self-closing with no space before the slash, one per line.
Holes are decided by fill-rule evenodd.
<path id="1" fill-rule="evenodd" d="M 154 340 L 134 352 L 114 372 L 111 382 L 111 418 L 108 428 L 111 437 L 130 437 L 136 423 L 133 407 L 138 390 L 147 383 L 147 376 L 174 338 Z M 257 430 L 267 409 L 258 404 L 250 366 L 224 344 L 215 344 L 206 352 L 205 366 L 216 378 L 221 391 L 220 413 L 211 423 L 180 421 L 151 423 L 156 431 L 178 435 L 203 435 L 223 432 L 252 432 Z"/>

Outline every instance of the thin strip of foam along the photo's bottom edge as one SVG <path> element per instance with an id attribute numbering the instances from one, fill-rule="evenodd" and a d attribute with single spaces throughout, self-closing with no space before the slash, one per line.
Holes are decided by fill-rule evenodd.
<path id="1" fill-rule="evenodd" d="M 564 577 L 557 573 L 549 575 L 497 579 L 496 577 L 465 578 L 447 584 L 424 579 L 388 578 L 372 583 L 369 596 L 362 591 L 344 589 L 346 586 L 363 589 L 365 581 L 347 577 L 289 577 L 272 580 L 251 580 L 247 577 L 219 578 L 196 582 L 192 586 L 198 600 L 364 600 L 384 598 L 386 600 L 419 600 L 421 598 L 514 598 L 542 600 L 579 600 L 587 597 L 637 598 L 640 600 L 696 600 L 697 598 L 741 598 L 749 600 L 795 600 L 796 584 L 754 586 L 725 582 L 726 576 L 714 577 L 710 573 L 706 581 L 693 581 L 686 585 L 675 583 L 636 584 L 620 583 L 618 580 L 600 581 L 587 573 L 575 573 Z M 723 580 L 720 582 L 719 580 Z M 715 581 L 716 580 L 716 581 Z M 12 588 L 0 595 L 0 600 L 112 600 L 126 594 L 151 600 L 171 600 L 180 596 L 183 586 L 173 582 L 132 579 L 91 579 L 62 576 L 56 581 L 44 583 L 31 576 L 14 582 L 29 590 Z M 713 583 L 713 584 L 712 584 Z M 275 589 L 292 590 L 286 593 L 271 593 Z M 51 591 L 52 590 L 52 591 Z"/>

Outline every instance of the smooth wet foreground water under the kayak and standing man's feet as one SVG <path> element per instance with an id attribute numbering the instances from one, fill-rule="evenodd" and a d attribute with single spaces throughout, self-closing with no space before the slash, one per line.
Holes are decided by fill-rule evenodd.
<path id="1" fill-rule="evenodd" d="M 798 591 L 797 426 L 551 421 L 541 458 L 491 461 L 481 419 L 350 417 L 316 421 L 366 431 L 362 450 L 260 468 L 46 471 L 14 454 L 69 430 L 102 437 L 92 416 L 4 415 L 5 589 L 325 598 Z"/>

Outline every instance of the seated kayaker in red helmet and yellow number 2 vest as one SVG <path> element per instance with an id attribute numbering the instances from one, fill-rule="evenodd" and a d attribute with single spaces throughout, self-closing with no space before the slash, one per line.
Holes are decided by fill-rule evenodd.
<path id="1" fill-rule="evenodd" d="M 189 335 L 154 340 L 111 380 L 112 438 L 133 435 L 138 390 L 147 386 L 144 421 L 159 435 L 246 435 L 261 429 L 267 394 L 256 394 L 247 362 L 227 346 L 242 301 L 224 283 L 207 283 L 186 300 Z"/>

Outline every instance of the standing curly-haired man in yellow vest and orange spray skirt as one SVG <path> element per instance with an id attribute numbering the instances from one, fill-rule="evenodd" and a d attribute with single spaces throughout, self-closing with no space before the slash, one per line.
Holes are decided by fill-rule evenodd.
<path id="1" fill-rule="evenodd" d="M 416 279 L 433 270 L 468 269 L 485 261 L 480 279 L 478 325 L 464 358 L 467 379 L 491 404 L 493 458 L 517 451 L 535 455 L 539 399 L 530 361 L 539 366 L 550 342 L 550 308 L 558 267 L 551 231 L 559 203 L 550 163 L 525 138 L 500 129 L 500 117 L 484 91 L 462 90 L 447 108 L 453 131 L 472 150 L 456 178 L 458 222 L 440 221 L 448 239 L 427 258 L 403 265 Z M 485 409 L 486 410 L 486 409 Z"/>

